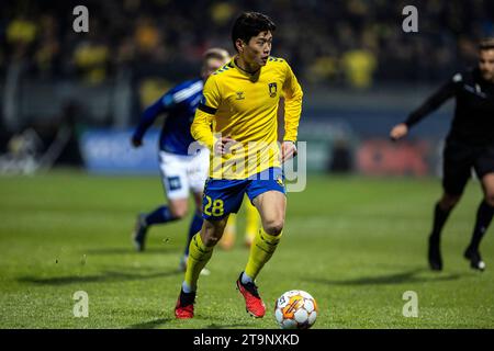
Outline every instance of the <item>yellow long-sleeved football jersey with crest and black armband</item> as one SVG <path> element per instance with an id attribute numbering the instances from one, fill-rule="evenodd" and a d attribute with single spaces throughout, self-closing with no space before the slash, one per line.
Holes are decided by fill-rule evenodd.
<path id="1" fill-rule="evenodd" d="M 192 136 L 213 149 L 220 137 L 237 141 L 225 155 L 211 152 L 210 177 L 246 179 L 270 167 L 280 167 L 278 104 L 284 103 L 284 140 L 296 141 L 302 111 L 302 89 L 282 58 L 269 57 L 250 75 L 235 58 L 206 80 Z"/>

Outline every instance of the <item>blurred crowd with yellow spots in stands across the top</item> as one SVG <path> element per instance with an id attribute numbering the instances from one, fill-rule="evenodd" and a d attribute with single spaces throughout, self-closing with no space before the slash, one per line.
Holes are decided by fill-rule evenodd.
<path id="1" fill-rule="evenodd" d="M 78 4 L 89 9 L 89 33 L 72 31 Z M 418 9 L 418 33 L 402 31 L 407 4 Z M 313 84 L 440 81 L 494 34 L 492 0 L 2 0 L 0 75 L 22 63 L 34 79 L 99 83 L 128 71 L 178 81 L 207 47 L 233 52 L 232 22 L 252 9 L 278 25 L 272 55 Z"/>

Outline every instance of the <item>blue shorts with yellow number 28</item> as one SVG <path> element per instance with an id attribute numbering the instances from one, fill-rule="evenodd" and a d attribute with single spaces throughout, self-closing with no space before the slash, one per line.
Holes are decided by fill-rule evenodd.
<path id="1" fill-rule="evenodd" d="M 202 217 L 207 220 L 220 220 L 240 208 L 244 194 L 254 201 L 267 191 L 279 191 L 285 194 L 284 177 L 281 168 L 269 168 L 247 179 L 207 179 L 202 197 Z"/>

